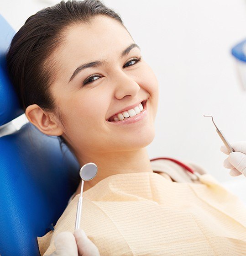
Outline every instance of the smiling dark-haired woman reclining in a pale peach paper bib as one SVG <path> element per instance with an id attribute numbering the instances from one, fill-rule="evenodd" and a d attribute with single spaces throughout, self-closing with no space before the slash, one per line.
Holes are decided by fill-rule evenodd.
<path id="1" fill-rule="evenodd" d="M 28 120 L 63 139 L 81 166 L 98 166 L 84 183 L 81 218 L 94 244 L 76 240 L 73 255 L 95 256 L 95 245 L 101 256 L 246 254 L 238 198 L 197 165 L 199 181 L 178 163 L 151 163 L 158 81 L 115 11 L 99 0 L 43 9 L 16 33 L 7 64 Z M 42 255 L 73 232 L 80 188 L 55 231 L 39 238 Z M 70 238 L 56 245 L 77 246 Z"/>

